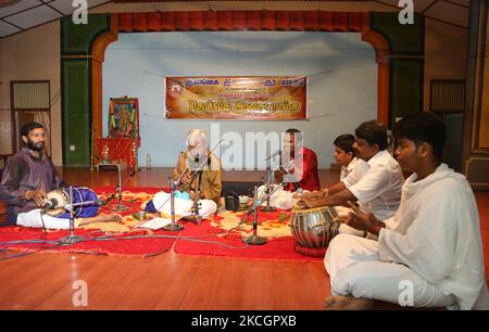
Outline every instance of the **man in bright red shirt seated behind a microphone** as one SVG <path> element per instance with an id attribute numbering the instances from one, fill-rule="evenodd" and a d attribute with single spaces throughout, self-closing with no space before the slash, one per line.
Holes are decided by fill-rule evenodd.
<path id="1" fill-rule="evenodd" d="M 317 175 L 316 153 L 303 146 L 303 133 L 298 129 L 287 129 L 284 136 L 284 151 L 280 155 L 280 175 L 288 182 L 288 191 L 314 191 L 321 188 Z"/>

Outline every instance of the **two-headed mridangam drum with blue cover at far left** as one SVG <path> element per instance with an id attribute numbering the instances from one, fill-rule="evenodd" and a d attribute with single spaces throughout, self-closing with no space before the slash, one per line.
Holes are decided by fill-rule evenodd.
<path id="1" fill-rule="evenodd" d="M 70 218 L 70 212 L 64 207 L 70 203 L 70 189 L 63 188 L 48 192 L 48 201 L 54 204 L 46 214 L 57 218 Z M 98 196 L 89 188 L 73 187 L 73 208 L 75 218 L 95 217 L 99 212 Z M 91 202 L 91 203 L 90 203 Z M 83 205 L 82 205 L 83 204 Z"/>

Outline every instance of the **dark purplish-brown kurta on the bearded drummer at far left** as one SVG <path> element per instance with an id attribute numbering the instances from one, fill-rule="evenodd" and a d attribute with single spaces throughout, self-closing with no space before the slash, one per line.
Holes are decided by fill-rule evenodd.
<path id="1" fill-rule="evenodd" d="M 61 179 L 51 158 L 41 154 L 35 157 L 27 148 L 9 158 L 0 182 L 0 191 L 20 197 L 27 190 L 42 190 L 46 193 L 67 183 Z M 14 202 L 14 201 L 12 201 Z M 9 221 L 15 222 L 20 213 L 37 208 L 33 200 L 21 200 L 18 204 L 9 205 Z"/>

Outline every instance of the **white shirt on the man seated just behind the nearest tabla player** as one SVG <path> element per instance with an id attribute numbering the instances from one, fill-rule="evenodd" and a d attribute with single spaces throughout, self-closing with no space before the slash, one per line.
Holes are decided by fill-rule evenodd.
<path id="1" fill-rule="evenodd" d="M 364 212 L 372 212 L 384 220 L 394 215 L 401 201 L 404 177 L 399 163 L 387 150 L 383 150 L 366 162 L 368 170 L 359 178 L 351 173 L 342 182 L 356 197 Z"/>

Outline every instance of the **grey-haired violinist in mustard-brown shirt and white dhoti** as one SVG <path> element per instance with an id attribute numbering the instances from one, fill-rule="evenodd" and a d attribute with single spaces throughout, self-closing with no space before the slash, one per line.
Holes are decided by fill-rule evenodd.
<path id="1" fill-rule="evenodd" d="M 175 214 L 198 215 L 206 218 L 217 210 L 222 190 L 222 167 L 220 158 L 208 149 L 205 132 L 192 129 L 186 138 L 187 151 L 183 152 L 173 171 L 173 180 L 178 181 L 175 194 Z M 170 194 L 159 192 L 153 197 L 154 208 L 171 213 Z"/>

